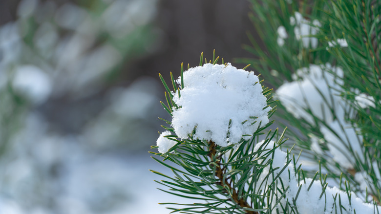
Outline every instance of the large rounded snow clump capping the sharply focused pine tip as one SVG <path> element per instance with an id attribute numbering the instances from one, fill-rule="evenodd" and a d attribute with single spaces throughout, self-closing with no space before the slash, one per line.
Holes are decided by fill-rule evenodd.
<path id="1" fill-rule="evenodd" d="M 259 124 L 269 122 L 271 107 L 263 109 L 267 99 L 258 77 L 231 64 L 204 64 L 185 71 L 180 95 L 173 96 L 179 108 L 173 108 L 172 127 L 182 139 L 195 130 L 193 139 L 224 147 L 250 139 Z"/>

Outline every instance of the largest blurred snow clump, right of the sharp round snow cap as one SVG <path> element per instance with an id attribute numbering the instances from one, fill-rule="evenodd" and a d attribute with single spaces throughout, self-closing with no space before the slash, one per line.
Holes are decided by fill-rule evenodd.
<path id="1" fill-rule="evenodd" d="M 296 75 L 293 76 L 295 81 L 284 83 L 277 89 L 276 94 L 287 111 L 296 118 L 304 118 L 310 124 L 314 124 L 314 118 L 306 109 L 310 109 L 318 119 L 332 122 L 334 115 L 330 108 L 333 107 L 336 113 L 344 118 L 344 103 L 341 97 L 334 95 L 333 99 L 330 98 L 331 94 L 338 94 L 336 90 L 340 88 L 340 80 L 327 70 L 332 70 L 342 77 L 343 71 L 340 67 L 311 64 L 296 70 Z M 297 80 L 298 77 L 300 80 Z"/>

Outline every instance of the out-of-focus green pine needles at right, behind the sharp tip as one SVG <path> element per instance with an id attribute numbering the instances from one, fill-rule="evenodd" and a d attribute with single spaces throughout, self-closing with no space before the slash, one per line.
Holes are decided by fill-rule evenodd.
<path id="1" fill-rule="evenodd" d="M 381 142 L 381 73 L 380 73 L 380 1 L 372 0 L 339 0 L 339 1 L 269 1 L 251 0 L 253 4 L 253 14 L 250 18 L 253 21 L 256 32 L 261 40 L 255 41 L 249 35 L 251 45 L 244 48 L 254 55 L 254 59 L 239 59 L 237 62 L 252 64 L 252 67 L 259 71 L 267 82 L 278 88 L 285 81 L 293 81 L 292 75 L 302 67 L 310 64 L 330 63 L 334 66 L 342 67 L 344 74 L 340 78 L 343 82 L 340 91 L 331 94 L 340 94 L 346 101 L 345 115 L 348 123 L 362 137 L 361 147 L 363 147 L 364 160 L 359 158 L 356 150 L 348 148 L 347 156 L 351 157 L 354 169 L 343 169 L 332 156 L 327 153 L 329 139 L 324 139 L 320 127 L 329 128 L 336 136 L 340 136 L 332 130 L 326 121 L 317 118 L 311 111 L 311 107 L 305 108 L 313 118 L 315 123 L 311 124 L 303 118 L 296 118 L 294 114 L 288 112 L 282 103 L 277 103 L 278 111 L 275 113 L 276 120 L 289 127 L 287 136 L 290 143 L 296 143 L 297 150 L 303 150 L 303 156 L 313 162 L 320 162 L 323 168 L 327 169 L 328 176 L 334 180 L 346 179 L 353 191 L 362 195 L 360 184 L 355 180 L 355 173 L 362 172 L 370 176 L 366 180 L 369 195 L 374 196 L 377 202 L 381 201 L 380 190 L 380 142 Z M 290 24 L 290 18 L 295 12 L 308 21 L 318 20 L 321 23 L 316 35 L 305 37 L 318 38 L 318 46 L 312 48 L 305 47 L 301 41 L 296 39 L 294 27 Z M 288 38 L 283 46 L 277 45 L 277 27 L 284 26 L 288 33 Z M 313 24 L 311 24 L 311 27 Z M 339 44 L 329 46 L 332 41 L 345 39 L 347 47 Z M 269 72 L 271 71 L 271 72 Z M 333 71 L 328 71 L 336 75 Z M 356 95 L 365 93 L 374 99 L 375 107 L 359 107 L 355 100 Z M 308 96 L 308 95 L 306 95 Z M 333 115 L 337 115 L 337 109 L 329 102 L 329 98 L 324 100 Z M 344 130 L 345 125 L 340 124 L 340 129 Z M 313 137 L 323 140 L 320 147 L 323 153 L 317 153 L 311 148 Z M 343 139 L 345 141 L 345 139 Z M 292 144 L 291 144 L 292 145 Z M 342 175 L 340 175 L 342 172 Z M 307 174 L 312 176 L 315 171 Z M 345 187 L 339 185 L 342 190 Z M 371 193 L 370 193 L 371 192 Z M 366 193 L 365 195 L 368 195 Z"/>

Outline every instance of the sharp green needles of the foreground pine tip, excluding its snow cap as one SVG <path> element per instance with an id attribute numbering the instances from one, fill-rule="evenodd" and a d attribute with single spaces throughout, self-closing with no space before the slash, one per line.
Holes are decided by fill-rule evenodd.
<path id="1" fill-rule="evenodd" d="M 218 59 L 219 57 L 215 58 L 215 53 L 213 52 L 213 58 L 209 62 L 216 64 Z M 206 58 L 203 58 L 202 53 L 200 65 L 203 64 L 204 60 L 208 62 Z M 183 64 L 181 64 L 180 71 L 181 87 L 183 88 Z M 179 90 L 174 82 L 173 75 L 171 74 L 170 76 L 174 90 Z M 177 108 L 177 106 L 173 105 L 173 91 L 169 89 L 161 74 L 159 74 L 159 77 L 167 90 L 165 94 L 168 106 L 163 102 L 161 104 L 171 114 L 170 109 L 172 107 Z M 270 91 L 265 89 L 263 94 L 270 95 Z M 169 96 L 167 96 L 167 93 Z M 268 99 L 269 103 L 271 99 L 272 97 Z M 254 146 L 259 142 L 259 137 L 264 135 L 263 131 L 273 122 L 258 128 L 251 140 L 241 140 L 238 145 L 230 145 L 228 147 L 220 147 L 212 141 L 193 139 L 191 135 L 189 139 L 179 140 L 175 133 L 173 133 L 173 128 L 162 126 L 173 133 L 165 137 L 176 141 L 177 145 L 165 154 L 150 153 L 160 156 L 161 158 L 153 157 L 153 159 L 171 169 L 174 177 L 152 171 L 167 179 L 156 182 L 170 188 L 169 191 L 161 189 L 164 192 L 201 200 L 201 202 L 195 204 L 163 204 L 180 206 L 182 208 L 169 209 L 173 210 L 173 212 L 181 211 L 182 213 L 257 213 L 274 209 L 266 205 L 273 204 L 273 200 L 277 200 L 276 205 L 282 196 L 274 195 L 271 189 L 263 193 L 261 188 L 255 188 L 255 186 L 273 187 L 275 182 L 278 182 L 279 179 L 277 178 L 274 180 L 268 179 L 262 184 L 257 184 L 256 180 L 263 169 L 271 165 L 271 158 L 268 157 L 274 155 L 274 150 L 285 142 L 284 133 L 279 133 L 278 129 L 275 131 L 270 130 L 261 148 L 265 148 L 266 145 L 274 142 L 274 140 L 277 142 L 277 145 L 272 150 L 254 150 Z M 166 121 L 166 123 L 170 125 L 169 121 Z M 155 148 L 157 147 L 152 147 L 152 149 Z M 286 166 L 283 170 L 286 169 Z M 268 176 L 270 175 L 274 176 L 274 169 L 269 171 Z M 285 191 L 286 189 L 282 193 L 285 193 Z"/>

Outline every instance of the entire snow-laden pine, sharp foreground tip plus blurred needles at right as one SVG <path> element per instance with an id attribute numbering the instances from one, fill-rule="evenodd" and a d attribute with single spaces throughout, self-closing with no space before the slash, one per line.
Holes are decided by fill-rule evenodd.
<path id="1" fill-rule="evenodd" d="M 381 3 L 303 2 L 252 1 L 266 49 L 252 40 L 255 60 L 238 61 L 270 80 L 274 96 L 248 66 L 217 64 L 214 52 L 182 64 L 178 79 L 170 73 L 173 90 L 159 74 L 172 119 L 151 153 L 173 175 L 153 172 L 162 191 L 194 200 L 163 203 L 172 213 L 381 210 Z M 271 117 L 288 130 L 269 130 Z"/>

